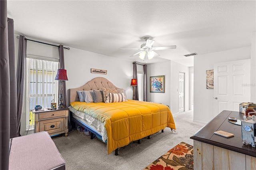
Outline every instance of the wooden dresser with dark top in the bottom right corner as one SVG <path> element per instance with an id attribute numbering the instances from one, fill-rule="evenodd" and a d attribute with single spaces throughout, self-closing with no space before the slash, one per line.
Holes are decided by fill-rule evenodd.
<path id="1" fill-rule="evenodd" d="M 228 122 L 229 117 L 243 119 L 244 114 L 222 111 L 194 136 L 194 169 L 196 170 L 255 170 L 256 148 L 242 142 L 241 126 Z M 233 133 L 226 138 L 215 131 Z"/>

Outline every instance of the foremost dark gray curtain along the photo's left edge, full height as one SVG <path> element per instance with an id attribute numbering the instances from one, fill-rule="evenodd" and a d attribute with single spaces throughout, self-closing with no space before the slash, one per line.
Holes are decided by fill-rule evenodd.
<path id="1" fill-rule="evenodd" d="M 12 21 L 11 21 L 12 22 Z M 13 22 L 12 22 L 13 23 Z M 11 31 L 10 31 L 11 32 Z M 12 32 L 12 34 L 14 34 Z M 13 56 L 9 56 L 10 51 L 14 51 L 14 46 L 8 44 L 8 18 L 7 2 L 0 0 L 0 169 L 9 168 L 9 140 L 10 140 L 10 111 L 13 97 L 12 89 L 15 72 L 15 61 Z M 10 41 L 11 42 L 11 41 Z M 13 49 L 12 49 L 13 48 Z M 11 59 L 10 59 L 11 58 Z M 13 67 L 14 66 L 14 67 Z M 15 99 L 14 99 L 15 100 Z"/>

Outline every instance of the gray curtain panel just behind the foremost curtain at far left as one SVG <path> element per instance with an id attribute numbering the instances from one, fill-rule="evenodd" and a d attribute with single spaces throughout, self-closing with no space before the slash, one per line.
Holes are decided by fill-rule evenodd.
<path id="1" fill-rule="evenodd" d="M 17 81 L 16 81 L 16 63 L 14 50 L 14 22 L 8 18 L 8 51 L 10 67 L 10 138 L 17 136 Z M 13 69 L 11 69 L 13 68 Z"/>

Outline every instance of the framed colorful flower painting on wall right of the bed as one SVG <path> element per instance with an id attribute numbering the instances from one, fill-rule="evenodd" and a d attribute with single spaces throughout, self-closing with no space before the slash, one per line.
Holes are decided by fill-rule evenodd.
<path id="1" fill-rule="evenodd" d="M 164 75 L 150 77 L 150 93 L 164 93 Z"/>

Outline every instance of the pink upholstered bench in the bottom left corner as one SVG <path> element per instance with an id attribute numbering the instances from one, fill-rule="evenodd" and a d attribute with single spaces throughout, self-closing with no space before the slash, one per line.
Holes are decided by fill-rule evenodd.
<path id="1" fill-rule="evenodd" d="M 65 164 L 48 132 L 12 138 L 9 170 L 65 170 Z"/>

